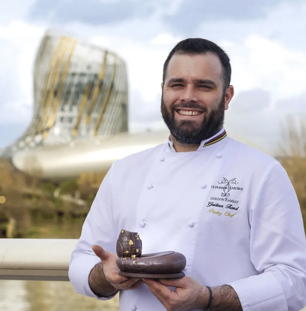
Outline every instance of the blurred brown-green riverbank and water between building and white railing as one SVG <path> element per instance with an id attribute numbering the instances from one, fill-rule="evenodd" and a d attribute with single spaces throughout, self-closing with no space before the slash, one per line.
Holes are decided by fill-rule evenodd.
<path id="1" fill-rule="evenodd" d="M 0 195 L 6 197 L 0 204 L 0 237 L 7 237 L 9 227 L 15 238 L 78 238 L 105 174 L 88 173 L 59 184 L 26 175 L 0 159 Z"/>

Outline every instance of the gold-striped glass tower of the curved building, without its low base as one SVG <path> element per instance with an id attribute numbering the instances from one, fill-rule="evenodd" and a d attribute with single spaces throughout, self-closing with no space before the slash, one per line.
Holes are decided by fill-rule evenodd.
<path id="1" fill-rule="evenodd" d="M 33 119 L 9 149 L 15 153 L 126 132 L 127 105 L 127 74 L 120 57 L 48 32 L 34 64 Z"/>

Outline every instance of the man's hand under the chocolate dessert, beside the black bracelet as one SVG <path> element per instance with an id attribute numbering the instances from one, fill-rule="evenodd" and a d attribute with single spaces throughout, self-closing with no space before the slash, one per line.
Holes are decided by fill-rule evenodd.
<path id="1" fill-rule="evenodd" d="M 143 279 L 153 295 L 168 311 L 203 310 L 209 300 L 209 291 L 195 279 L 190 277 L 175 279 Z M 175 287 L 172 291 L 167 286 Z"/>

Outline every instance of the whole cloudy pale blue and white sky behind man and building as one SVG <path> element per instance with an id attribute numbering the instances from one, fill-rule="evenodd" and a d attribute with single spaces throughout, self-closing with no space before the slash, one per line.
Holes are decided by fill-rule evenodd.
<path id="1" fill-rule="evenodd" d="M 31 121 L 32 66 L 47 29 L 125 59 L 132 131 L 164 128 L 162 65 L 187 37 L 212 40 L 230 56 L 232 137 L 271 154 L 286 115 L 306 115 L 306 0 L 2 0 L 0 147 Z"/>

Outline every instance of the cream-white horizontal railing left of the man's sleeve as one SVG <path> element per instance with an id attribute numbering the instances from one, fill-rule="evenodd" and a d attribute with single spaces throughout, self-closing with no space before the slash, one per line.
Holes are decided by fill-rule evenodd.
<path id="1" fill-rule="evenodd" d="M 69 281 L 77 239 L 0 239 L 0 279 Z"/>

